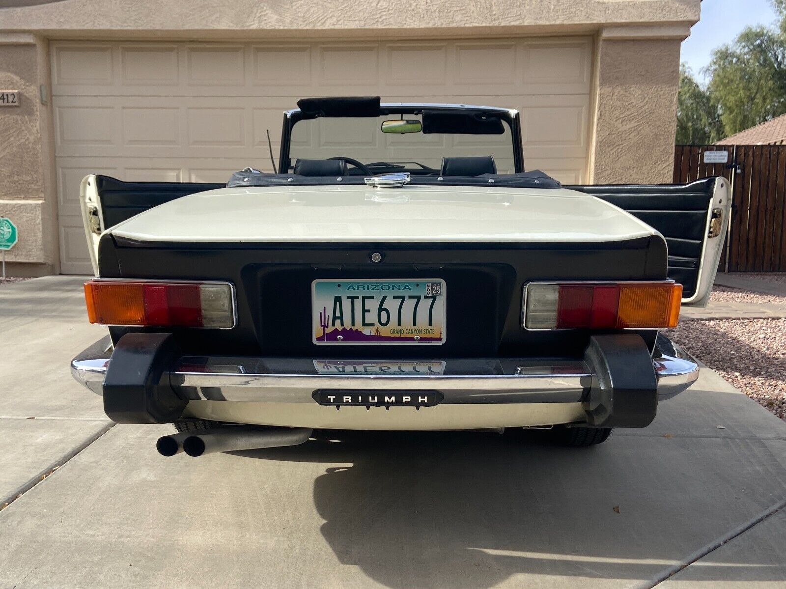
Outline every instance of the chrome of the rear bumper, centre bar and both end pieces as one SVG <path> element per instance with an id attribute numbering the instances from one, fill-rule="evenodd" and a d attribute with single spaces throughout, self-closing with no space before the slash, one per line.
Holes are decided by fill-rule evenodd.
<path id="1" fill-rule="evenodd" d="M 699 366 L 677 346 L 653 359 L 660 399 L 684 391 Z M 74 378 L 101 395 L 112 355 L 108 337 L 72 360 Z M 582 361 L 526 359 L 446 360 L 443 374 L 318 374 L 311 359 L 186 356 L 164 378 L 185 399 L 259 403 L 314 403 L 318 388 L 347 390 L 438 389 L 443 403 L 578 403 L 586 400 L 593 372 Z"/>

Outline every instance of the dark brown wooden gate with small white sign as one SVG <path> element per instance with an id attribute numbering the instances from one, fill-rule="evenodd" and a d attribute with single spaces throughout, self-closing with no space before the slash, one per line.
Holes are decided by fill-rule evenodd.
<path id="1" fill-rule="evenodd" d="M 704 164 L 726 151 L 728 164 Z M 732 218 L 721 270 L 786 271 L 786 145 L 677 145 L 674 182 L 723 176 L 732 186 Z"/>

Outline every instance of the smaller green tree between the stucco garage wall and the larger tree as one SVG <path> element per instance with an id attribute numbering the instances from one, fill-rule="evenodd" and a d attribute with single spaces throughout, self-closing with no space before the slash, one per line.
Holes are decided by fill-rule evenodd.
<path id="1" fill-rule="evenodd" d="M 713 100 L 709 91 L 700 87 L 690 68 L 681 64 L 677 100 L 677 144 L 707 145 L 723 136 L 718 103 Z"/>

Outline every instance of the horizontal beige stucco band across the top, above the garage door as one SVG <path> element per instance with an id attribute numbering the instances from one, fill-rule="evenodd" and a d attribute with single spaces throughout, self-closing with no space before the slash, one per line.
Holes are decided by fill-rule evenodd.
<path id="1" fill-rule="evenodd" d="M 13 3 L 13 0 L 10 0 Z M 267 38 L 470 36 L 693 23 L 700 0 L 64 0 L 0 12 L 0 31 L 46 35 Z M 226 38 L 224 36 L 224 38 Z"/>

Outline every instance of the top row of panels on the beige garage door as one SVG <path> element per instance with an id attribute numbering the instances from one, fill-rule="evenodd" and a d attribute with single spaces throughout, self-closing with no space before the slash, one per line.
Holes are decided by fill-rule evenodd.
<path id="1" fill-rule="evenodd" d="M 494 84 L 488 89 L 494 95 L 587 94 L 592 54 L 588 39 L 314 45 L 56 42 L 52 51 L 55 95 L 206 98 L 288 97 L 293 88 L 297 96 L 346 95 L 351 88 L 392 97 L 402 95 L 402 85 L 418 87 L 419 94 L 461 97 L 488 84 Z M 307 88 L 311 90 L 301 91 Z"/>

